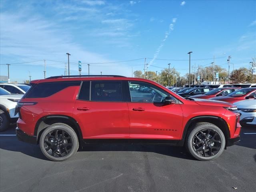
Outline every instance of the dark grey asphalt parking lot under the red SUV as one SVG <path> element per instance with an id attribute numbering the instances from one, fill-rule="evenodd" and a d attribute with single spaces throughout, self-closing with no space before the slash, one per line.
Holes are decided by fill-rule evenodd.
<path id="1" fill-rule="evenodd" d="M 256 129 L 243 128 L 242 141 L 210 162 L 181 147 L 144 144 L 94 144 L 51 162 L 14 130 L 0 133 L 0 192 L 256 191 L 256 134 L 244 134 Z"/>

